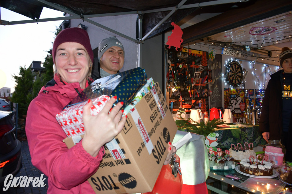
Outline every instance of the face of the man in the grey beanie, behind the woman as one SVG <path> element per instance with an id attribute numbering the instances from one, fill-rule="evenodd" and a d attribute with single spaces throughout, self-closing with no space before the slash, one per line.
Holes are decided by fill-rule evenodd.
<path id="1" fill-rule="evenodd" d="M 100 68 L 107 73 L 115 74 L 124 65 L 124 51 L 120 47 L 112 46 L 100 57 Z"/>

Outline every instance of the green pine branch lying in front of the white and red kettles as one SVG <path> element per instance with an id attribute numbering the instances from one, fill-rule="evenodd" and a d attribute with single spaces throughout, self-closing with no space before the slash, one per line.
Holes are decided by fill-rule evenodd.
<path id="1" fill-rule="evenodd" d="M 221 119 L 213 119 L 211 121 L 207 121 L 205 124 L 204 122 L 196 122 L 190 119 L 192 122 L 195 122 L 197 125 L 190 124 L 188 120 L 177 120 L 175 121 L 176 125 L 178 126 L 178 130 L 180 131 L 187 131 L 191 133 L 197 133 L 199 135 L 204 135 L 205 137 L 210 133 L 215 132 L 215 128 L 220 129 L 222 127 L 218 125 L 225 124 L 225 121 Z"/>

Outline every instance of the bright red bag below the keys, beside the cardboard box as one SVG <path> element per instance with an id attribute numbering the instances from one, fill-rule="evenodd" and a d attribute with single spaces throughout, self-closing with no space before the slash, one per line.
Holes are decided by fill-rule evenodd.
<path id="1" fill-rule="evenodd" d="M 180 163 L 180 158 L 176 156 L 176 161 Z M 180 165 L 179 165 L 180 166 Z M 183 177 L 178 173 L 175 178 L 172 174 L 171 165 L 163 165 L 152 191 L 141 194 L 179 194 L 183 187 Z"/>

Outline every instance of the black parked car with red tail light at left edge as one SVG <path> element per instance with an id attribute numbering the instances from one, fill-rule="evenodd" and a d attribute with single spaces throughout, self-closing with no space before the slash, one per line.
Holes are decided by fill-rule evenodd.
<path id="1" fill-rule="evenodd" d="M 14 112 L 0 110 L 0 185 L 8 174 L 14 177 L 22 167 L 21 143 L 15 130 Z"/>

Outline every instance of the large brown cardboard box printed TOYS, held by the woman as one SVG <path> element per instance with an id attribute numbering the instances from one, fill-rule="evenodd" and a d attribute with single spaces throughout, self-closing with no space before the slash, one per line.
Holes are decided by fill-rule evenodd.
<path id="1" fill-rule="evenodd" d="M 95 193 L 152 191 L 177 126 L 158 86 L 127 114 L 124 129 L 106 144 L 98 171 L 88 181 Z M 74 146 L 72 137 L 64 140 Z"/>

